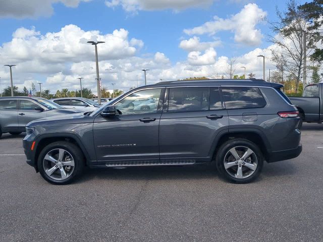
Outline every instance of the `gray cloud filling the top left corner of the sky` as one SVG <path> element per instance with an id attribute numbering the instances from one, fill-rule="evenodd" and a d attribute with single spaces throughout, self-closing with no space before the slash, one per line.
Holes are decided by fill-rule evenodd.
<path id="1" fill-rule="evenodd" d="M 62 3 L 67 7 L 76 8 L 80 2 L 90 1 L 92 0 L 2 0 L 0 18 L 49 17 L 53 13 L 52 4 Z"/>

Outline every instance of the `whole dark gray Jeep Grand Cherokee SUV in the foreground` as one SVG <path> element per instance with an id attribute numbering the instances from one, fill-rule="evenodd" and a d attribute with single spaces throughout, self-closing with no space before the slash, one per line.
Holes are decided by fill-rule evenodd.
<path id="1" fill-rule="evenodd" d="M 297 157 L 300 118 L 262 80 L 172 81 L 143 86 L 86 114 L 27 125 L 27 163 L 52 184 L 86 167 L 192 165 L 212 162 L 235 183 L 255 179 L 263 162 Z M 138 108 L 141 101 L 156 105 Z"/>

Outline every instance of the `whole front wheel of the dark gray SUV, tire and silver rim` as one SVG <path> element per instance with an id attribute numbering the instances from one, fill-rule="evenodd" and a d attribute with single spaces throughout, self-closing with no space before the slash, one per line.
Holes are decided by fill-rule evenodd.
<path id="1" fill-rule="evenodd" d="M 81 174 L 84 156 L 76 145 L 60 141 L 47 145 L 39 154 L 38 170 L 51 184 L 69 184 Z"/>

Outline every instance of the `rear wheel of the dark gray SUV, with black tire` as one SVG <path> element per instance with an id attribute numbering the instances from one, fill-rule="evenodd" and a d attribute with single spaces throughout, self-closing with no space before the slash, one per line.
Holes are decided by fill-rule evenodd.
<path id="1" fill-rule="evenodd" d="M 235 147 L 237 148 L 235 150 L 237 151 L 237 154 L 239 156 L 238 159 L 234 158 L 234 155 L 232 155 L 230 152 L 230 150 Z M 248 161 L 247 159 L 242 160 L 243 152 L 245 152 L 247 149 L 251 149 L 253 153 L 247 156 Z M 228 165 L 229 158 L 231 159 L 230 160 L 231 162 L 235 161 L 235 163 L 234 165 L 232 165 L 232 167 L 226 169 L 225 163 Z M 243 162 L 243 163 L 240 163 L 240 162 Z M 251 165 L 254 166 L 254 164 L 256 163 L 255 170 L 248 168 L 246 163 L 250 166 Z M 258 177 L 258 175 L 262 170 L 263 155 L 259 147 L 254 143 L 250 142 L 249 140 L 245 140 L 245 139 L 228 140 L 223 145 L 221 145 L 221 147 L 218 150 L 218 153 L 216 156 L 216 165 L 219 173 L 225 179 L 231 181 L 232 183 L 238 183 L 238 184 L 250 183 L 252 180 Z M 241 169 L 244 169 L 246 174 L 245 177 L 237 178 L 238 173 L 235 173 L 235 169 L 238 172 L 238 166 L 240 166 Z M 243 171 L 242 171 L 242 174 L 243 174 Z M 235 177 L 233 175 L 235 175 Z"/>

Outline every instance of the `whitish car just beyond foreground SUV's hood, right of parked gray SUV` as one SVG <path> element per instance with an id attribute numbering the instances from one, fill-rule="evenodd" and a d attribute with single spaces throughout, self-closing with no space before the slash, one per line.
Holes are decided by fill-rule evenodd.
<path id="1" fill-rule="evenodd" d="M 95 111 L 100 107 L 96 102 L 82 97 L 62 97 L 54 98 L 51 101 L 66 107 L 66 108 L 76 108 L 84 112 Z"/>

